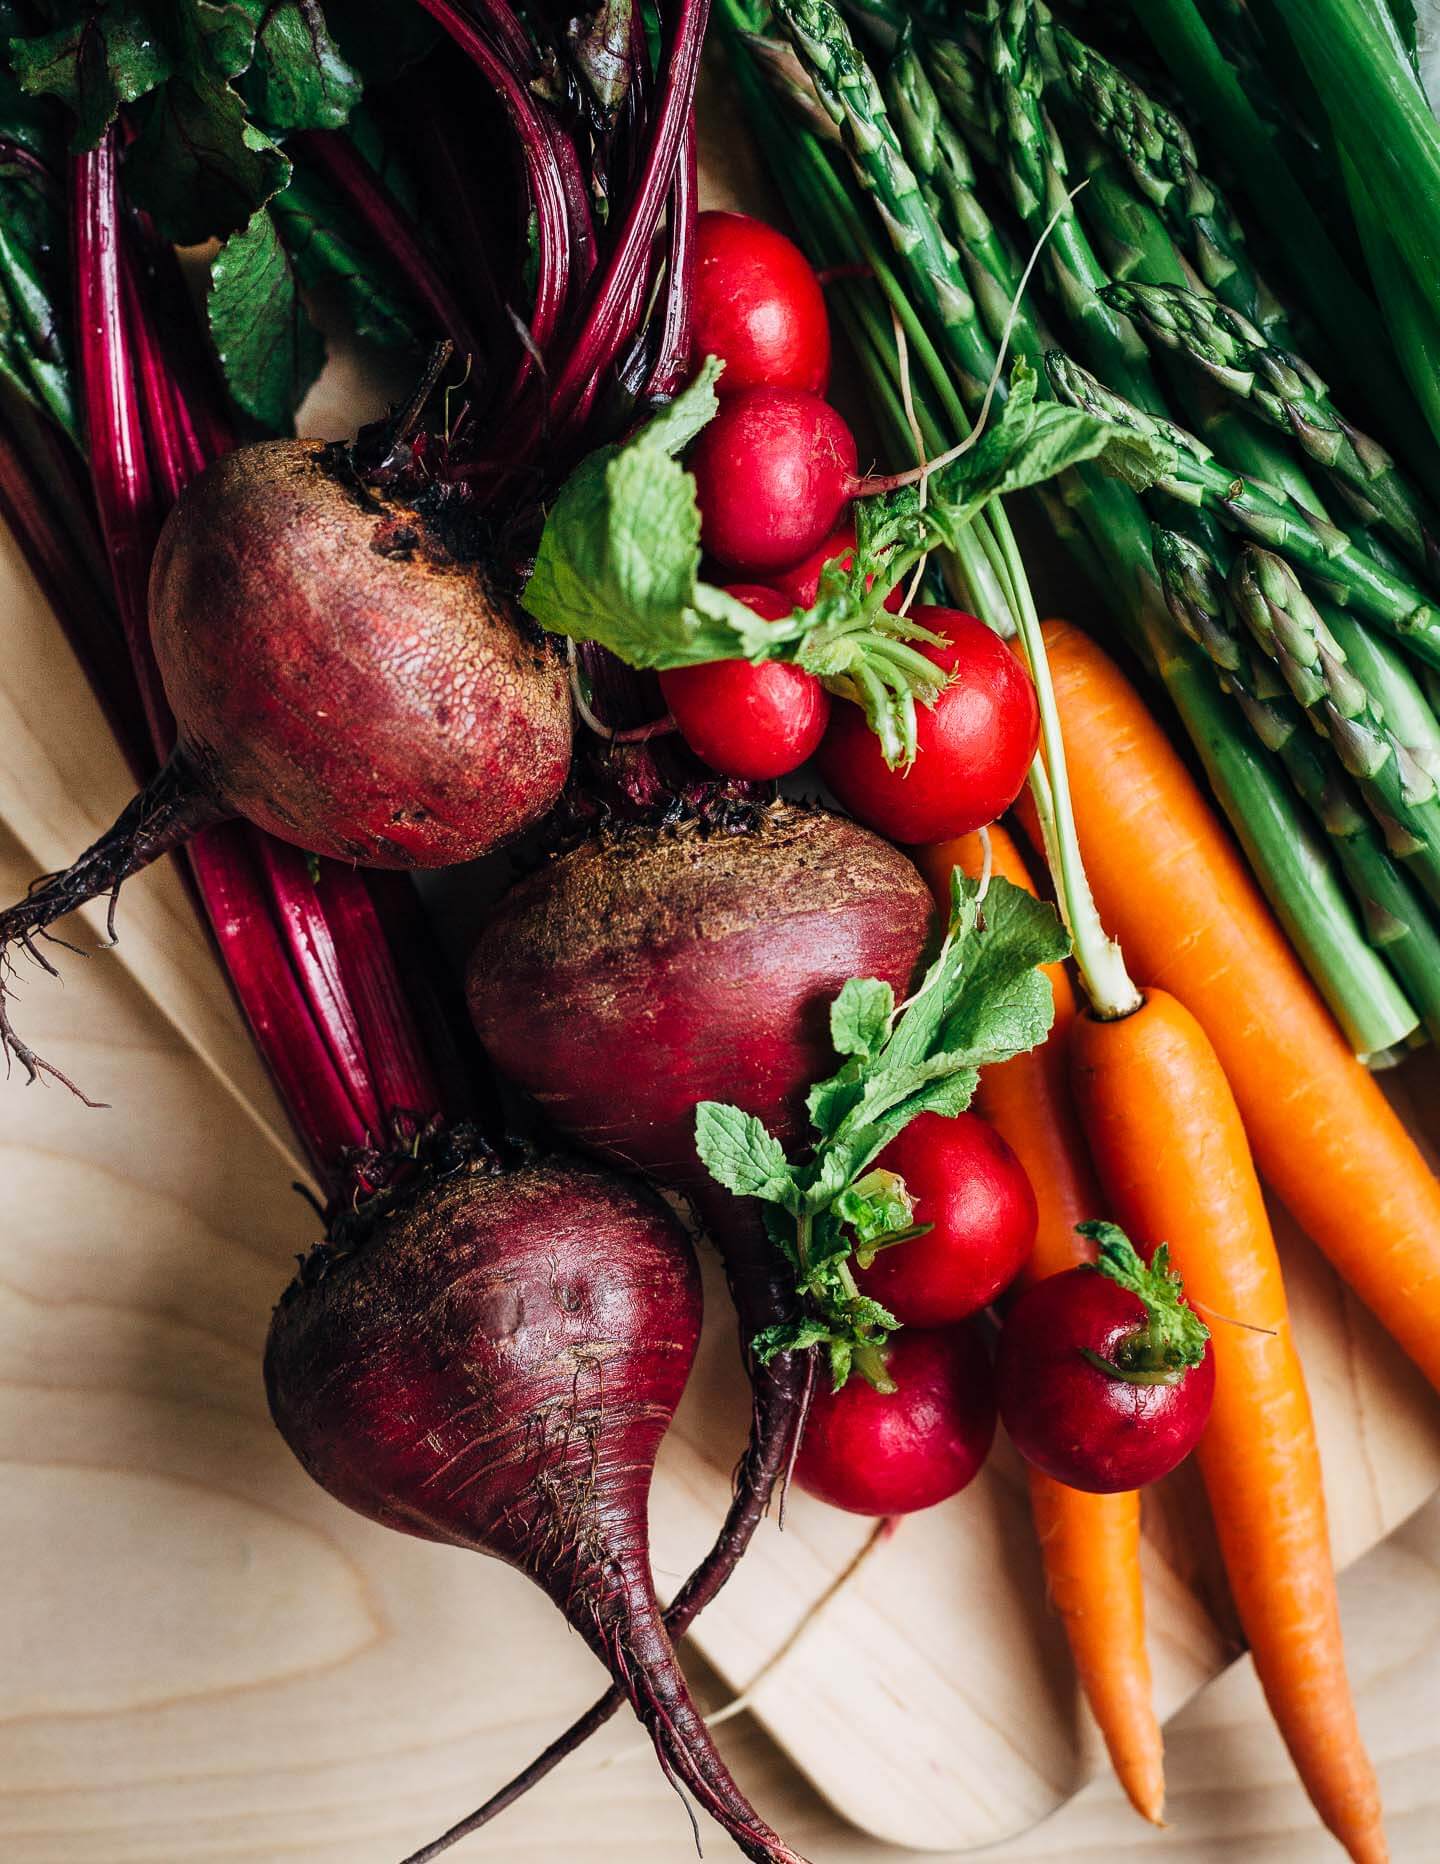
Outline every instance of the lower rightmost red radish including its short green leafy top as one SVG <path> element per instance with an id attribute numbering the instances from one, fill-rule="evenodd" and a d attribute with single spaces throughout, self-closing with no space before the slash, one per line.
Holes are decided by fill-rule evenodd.
<path id="1" fill-rule="evenodd" d="M 1049 1275 L 1000 1335 L 1004 1428 L 1026 1463 L 1110 1495 L 1159 1482 L 1200 1441 L 1215 1398 L 1209 1333 L 1164 1254 L 1146 1266 L 1110 1223 L 1086 1223 L 1097 1266 Z"/>

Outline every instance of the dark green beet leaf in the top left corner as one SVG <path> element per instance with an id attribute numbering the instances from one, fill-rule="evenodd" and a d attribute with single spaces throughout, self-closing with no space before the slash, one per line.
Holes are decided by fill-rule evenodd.
<path id="1" fill-rule="evenodd" d="M 170 76 L 171 50 L 160 21 L 160 0 L 102 0 L 78 7 L 54 32 L 9 41 L 20 88 L 32 97 L 58 97 L 73 112 L 75 151 L 93 149 L 121 104 Z"/>

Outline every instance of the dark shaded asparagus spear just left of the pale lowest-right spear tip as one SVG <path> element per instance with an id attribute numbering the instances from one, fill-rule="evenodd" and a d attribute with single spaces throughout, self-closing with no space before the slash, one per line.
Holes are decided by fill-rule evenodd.
<path id="1" fill-rule="evenodd" d="M 1338 770 L 1274 667 L 1243 637 L 1216 563 L 1177 531 L 1155 529 L 1155 569 L 1166 604 L 1215 664 L 1256 738 L 1285 768 L 1325 828 L 1351 884 L 1371 945 L 1393 966 L 1440 1040 L 1440 930 L 1392 859 L 1352 781 Z"/>

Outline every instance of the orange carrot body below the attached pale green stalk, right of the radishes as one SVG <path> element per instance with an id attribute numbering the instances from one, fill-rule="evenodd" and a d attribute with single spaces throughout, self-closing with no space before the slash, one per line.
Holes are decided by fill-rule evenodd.
<path id="1" fill-rule="evenodd" d="M 1079 1016 L 1071 1079 L 1116 1221 L 1170 1245 L 1211 1320 L 1215 1409 L 1196 1456 L 1270 1713 L 1321 1819 L 1360 1864 L 1382 1864 L 1315 1426 L 1235 1096 L 1205 1031 L 1162 990 L 1114 1021 Z"/>

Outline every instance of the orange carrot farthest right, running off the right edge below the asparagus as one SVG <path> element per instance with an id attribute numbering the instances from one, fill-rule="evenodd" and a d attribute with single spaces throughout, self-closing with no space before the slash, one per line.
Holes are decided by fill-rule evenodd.
<path id="1" fill-rule="evenodd" d="M 1107 925 L 1209 1035 L 1265 1178 L 1440 1387 L 1440 1184 L 1140 695 L 1077 628 L 1045 641 Z"/>

